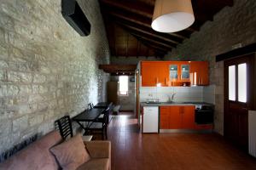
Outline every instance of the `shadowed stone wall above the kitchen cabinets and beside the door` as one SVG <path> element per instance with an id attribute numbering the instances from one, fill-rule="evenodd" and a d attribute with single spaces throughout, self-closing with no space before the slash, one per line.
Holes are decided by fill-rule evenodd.
<path id="1" fill-rule="evenodd" d="M 210 81 L 215 89 L 215 130 L 224 132 L 224 63 L 215 62 L 215 56 L 231 50 L 232 45 L 241 42 L 246 46 L 256 42 L 256 1 L 234 0 L 233 7 L 225 7 L 195 32 L 166 60 L 208 60 Z"/>

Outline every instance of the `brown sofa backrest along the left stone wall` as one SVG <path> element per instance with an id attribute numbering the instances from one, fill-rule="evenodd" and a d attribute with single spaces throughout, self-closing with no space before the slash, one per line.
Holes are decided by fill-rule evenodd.
<path id="1" fill-rule="evenodd" d="M 20 150 L 9 160 L 0 164 L 0 169 L 9 170 L 56 170 L 59 169 L 49 148 L 62 141 L 60 133 L 53 131 Z"/>

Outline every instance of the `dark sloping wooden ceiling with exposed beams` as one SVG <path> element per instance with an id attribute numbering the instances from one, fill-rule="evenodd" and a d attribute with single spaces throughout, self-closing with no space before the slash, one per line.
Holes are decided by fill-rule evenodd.
<path id="1" fill-rule="evenodd" d="M 112 56 L 163 57 L 233 0 L 192 0 L 195 23 L 183 31 L 160 33 L 151 28 L 155 0 L 99 0 Z"/>

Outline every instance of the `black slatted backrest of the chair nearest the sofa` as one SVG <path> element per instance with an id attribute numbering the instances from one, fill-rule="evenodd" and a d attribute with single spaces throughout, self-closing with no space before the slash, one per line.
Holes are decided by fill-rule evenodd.
<path id="1" fill-rule="evenodd" d="M 63 116 L 55 121 L 55 129 L 59 130 L 62 139 L 67 139 L 68 136 L 73 137 L 73 128 L 70 116 Z"/>

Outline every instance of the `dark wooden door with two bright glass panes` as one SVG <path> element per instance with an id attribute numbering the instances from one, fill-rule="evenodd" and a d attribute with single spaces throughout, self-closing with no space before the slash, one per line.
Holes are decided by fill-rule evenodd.
<path id="1" fill-rule="evenodd" d="M 247 150 L 248 110 L 253 107 L 253 59 L 224 61 L 224 136 Z"/>

